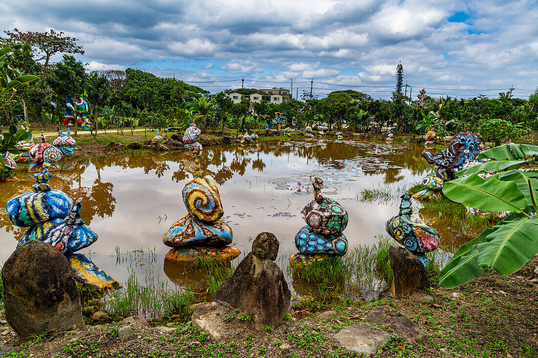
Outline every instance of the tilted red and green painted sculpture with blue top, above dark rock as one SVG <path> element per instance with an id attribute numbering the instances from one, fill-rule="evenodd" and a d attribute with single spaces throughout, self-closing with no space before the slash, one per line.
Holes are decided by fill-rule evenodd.
<path id="1" fill-rule="evenodd" d="M 401 199 L 400 213 L 387 221 L 385 230 L 426 266 L 428 259 L 425 254 L 439 246 L 440 235 L 424 221 L 412 216 L 411 194 L 406 192 Z"/>

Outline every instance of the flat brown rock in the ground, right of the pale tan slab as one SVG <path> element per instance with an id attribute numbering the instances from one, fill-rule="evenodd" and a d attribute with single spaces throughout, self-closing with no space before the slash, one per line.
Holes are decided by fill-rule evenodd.
<path id="1" fill-rule="evenodd" d="M 388 306 L 373 307 L 372 311 L 364 319 L 364 322 L 389 326 L 394 330 L 394 333 L 409 343 L 417 343 L 426 336 L 416 323 L 403 314 L 394 312 Z"/>

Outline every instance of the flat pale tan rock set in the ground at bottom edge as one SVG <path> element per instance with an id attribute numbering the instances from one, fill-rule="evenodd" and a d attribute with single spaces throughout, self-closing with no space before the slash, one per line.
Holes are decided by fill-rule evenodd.
<path id="1" fill-rule="evenodd" d="M 380 328 L 362 323 L 342 328 L 332 338 L 353 352 L 375 354 L 379 352 L 381 346 L 391 339 L 391 335 Z"/>

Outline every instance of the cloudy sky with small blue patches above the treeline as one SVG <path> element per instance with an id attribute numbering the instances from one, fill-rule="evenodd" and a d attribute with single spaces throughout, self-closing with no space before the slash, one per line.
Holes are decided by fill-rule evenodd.
<path id="1" fill-rule="evenodd" d="M 313 78 L 321 96 L 388 98 L 399 61 L 413 96 L 538 87 L 536 0 L 0 0 L 0 24 L 78 38 L 88 69 L 138 68 L 211 92 L 244 76 L 249 88 L 293 78 L 301 94 Z"/>

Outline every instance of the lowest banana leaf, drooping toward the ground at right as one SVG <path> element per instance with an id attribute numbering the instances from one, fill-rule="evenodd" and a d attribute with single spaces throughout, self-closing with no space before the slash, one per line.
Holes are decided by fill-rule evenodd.
<path id="1" fill-rule="evenodd" d="M 458 256 L 448 263 L 447 267 L 450 265 L 449 269 L 441 276 L 437 283 L 446 289 L 451 289 L 475 280 L 482 274 L 485 274 L 486 270 L 478 266 L 477 257 L 477 245 L 473 245 L 465 255 Z"/>

